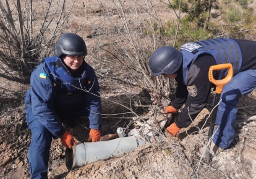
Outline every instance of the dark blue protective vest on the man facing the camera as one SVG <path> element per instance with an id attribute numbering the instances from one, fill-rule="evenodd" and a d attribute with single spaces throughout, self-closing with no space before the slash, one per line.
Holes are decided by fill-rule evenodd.
<path id="1" fill-rule="evenodd" d="M 74 113 L 86 106 L 87 93 L 84 90 L 88 83 L 88 75 L 85 72 L 89 65 L 85 65 L 81 78 L 73 78 L 63 67 L 59 67 L 56 62 L 61 60 L 56 56 L 43 59 L 48 66 L 53 77 L 56 88 L 56 98 L 54 108 L 61 119 L 70 119 Z M 83 90 L 81 90 L 81 88 Z"/>

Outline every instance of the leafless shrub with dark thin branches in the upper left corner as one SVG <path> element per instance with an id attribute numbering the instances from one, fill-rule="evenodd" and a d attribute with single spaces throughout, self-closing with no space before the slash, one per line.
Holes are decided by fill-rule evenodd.
<path id="1" fill-rule="evenodd" d="M 15 81 L 30 77 L 40 57 L 53 51 L 74 2 L 66 11 L 66 1 L 0 2 L 0 77 Z"/>

